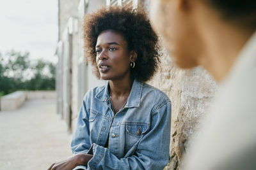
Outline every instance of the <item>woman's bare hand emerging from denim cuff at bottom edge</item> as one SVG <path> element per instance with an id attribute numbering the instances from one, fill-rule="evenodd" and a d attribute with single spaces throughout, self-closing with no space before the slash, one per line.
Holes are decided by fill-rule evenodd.
<path id="1" fill-rule="evenodd" d="M 53 163 L 48 170 L 72 170 L 76 166 L 87 166 L 87 163 L 92 157 L 93 155 L 78 153 L 66 160 Z"/>

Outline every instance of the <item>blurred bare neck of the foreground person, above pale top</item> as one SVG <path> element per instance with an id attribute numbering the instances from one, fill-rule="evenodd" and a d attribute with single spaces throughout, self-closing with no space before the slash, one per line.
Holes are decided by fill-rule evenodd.
<path id="1" fill-rule="evenodd" d="M 244 29 L 220 17 L 219 13 L 207 9 L 204 4 L 195 13 L 195 22 L 205 48 L 198 63 L 218 82 L 225 79 L 239 52 L 254 32 L 253 29 Z"/>

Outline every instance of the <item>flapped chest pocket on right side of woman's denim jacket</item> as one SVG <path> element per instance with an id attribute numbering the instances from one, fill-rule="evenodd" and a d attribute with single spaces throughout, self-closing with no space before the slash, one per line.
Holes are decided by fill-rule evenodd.
<path id="1" fill-rule="evenodd" d="M 138 145 L 140 139 L 147 134 L 149 125 L 145 123 L 129 123 L 125 125 L 125 152 Z"/>

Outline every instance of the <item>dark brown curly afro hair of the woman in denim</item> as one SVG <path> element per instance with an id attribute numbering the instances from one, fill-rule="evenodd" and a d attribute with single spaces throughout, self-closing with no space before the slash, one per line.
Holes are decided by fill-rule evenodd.
<path id="1" fill-rule="evenodd" d="M 136 66 L 131 76 L 138 81 L 148 81 L 154 76 L 159 62 L 159 44 L 143 8 L 108 6 L 84 17 L 84 55 L 92 62 L 93 73 L 100 78 L 96 64 L 95 45 L 102 31 L 113 30 L 127 41 L 129 52 L 137 53 Z"/>

